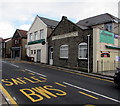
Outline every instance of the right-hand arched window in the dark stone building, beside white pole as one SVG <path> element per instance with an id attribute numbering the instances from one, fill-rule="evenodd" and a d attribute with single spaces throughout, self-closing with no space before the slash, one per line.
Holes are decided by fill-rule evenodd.
<path id="1" fill-rule="evenodd" d="M 87 43 L 80 43 L 78 46 L 78 58 L 87 59 Z"/>

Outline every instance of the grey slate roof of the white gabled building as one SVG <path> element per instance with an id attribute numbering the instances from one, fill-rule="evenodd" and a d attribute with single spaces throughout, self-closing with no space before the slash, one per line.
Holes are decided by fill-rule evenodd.
<path id="1" fill-rule="evenodd" d="M 39 16 L 38 16 L 39 17 Z M 48 27 L 56 27 L 59 21 L 47 19 L 44 17 L 39 17 Z"/>

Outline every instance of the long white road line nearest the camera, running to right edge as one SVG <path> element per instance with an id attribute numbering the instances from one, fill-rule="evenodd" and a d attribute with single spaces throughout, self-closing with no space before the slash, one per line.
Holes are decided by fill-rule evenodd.
<path id="1" fill-rule="evenodd" d="M 74 87 L 74 88 L 81 89 L 81 90 L 84 90 L 84 91 L 86 91 L 86 92 L 89 92 L 89 93 L 92 93 L 92 94 L 95 94 L 95 95 L 101 96 L 101 97 L 106 98 L 106 99 L 109 99 L 109 100 L 111 100 L 111 101 L 114 101 L 114 102 L 120 103 L 120 101 L 117 100 L 117 99 L 114 99 L 114 98 L 111 98 L 111 97 L 108 97 L 108 96 L 105 96 L 105 95 L 102 95 L 102 94 L 99 94 L 99 93 L 96 93 L 96 92 L 93 92 L 93 91 L 87 90 L 87 89 L 85 89 L 85 88 L 78 87 L 78 86 L 76 86 L 76 85 L 72 85 L 72 84 L 67 83 L 67 82 L 63 82 L 63 83 L 66 84 L 66 85 L 72 86 L 72 87 Z"/>

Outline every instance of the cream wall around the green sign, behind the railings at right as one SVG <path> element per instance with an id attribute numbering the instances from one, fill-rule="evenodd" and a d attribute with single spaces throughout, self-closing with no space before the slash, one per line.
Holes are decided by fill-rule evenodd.
<path id="1" fill-rule="evenodd" d="M 116 56 L 118 49 L 106 48 L 106 45 L 118 46 L 118 39 L 114 39 L 114 44 L 100 42 L 100 29 L 93 29 L 93 72 L 114 70 L 118 66 Z M 101 57 L 101 53 L 109 52 L 110 57 Z"/>

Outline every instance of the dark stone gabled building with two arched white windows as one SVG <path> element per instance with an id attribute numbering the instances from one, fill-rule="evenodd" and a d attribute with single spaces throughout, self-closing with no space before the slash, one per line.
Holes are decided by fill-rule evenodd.
<path id="1" fill-rule="evenodd" d="M 87 35 L 92 35 L 91 28 L 74 24 L 67 17 L 63 16 L 51 36 L 48 37 L 48 63 L 56 66 L 87 70 Z M 90 36 L 89 43 L 89 55 L 92 60 L 92 36 Z M 92 69 L 92 61 L 89 64 Z"/>

